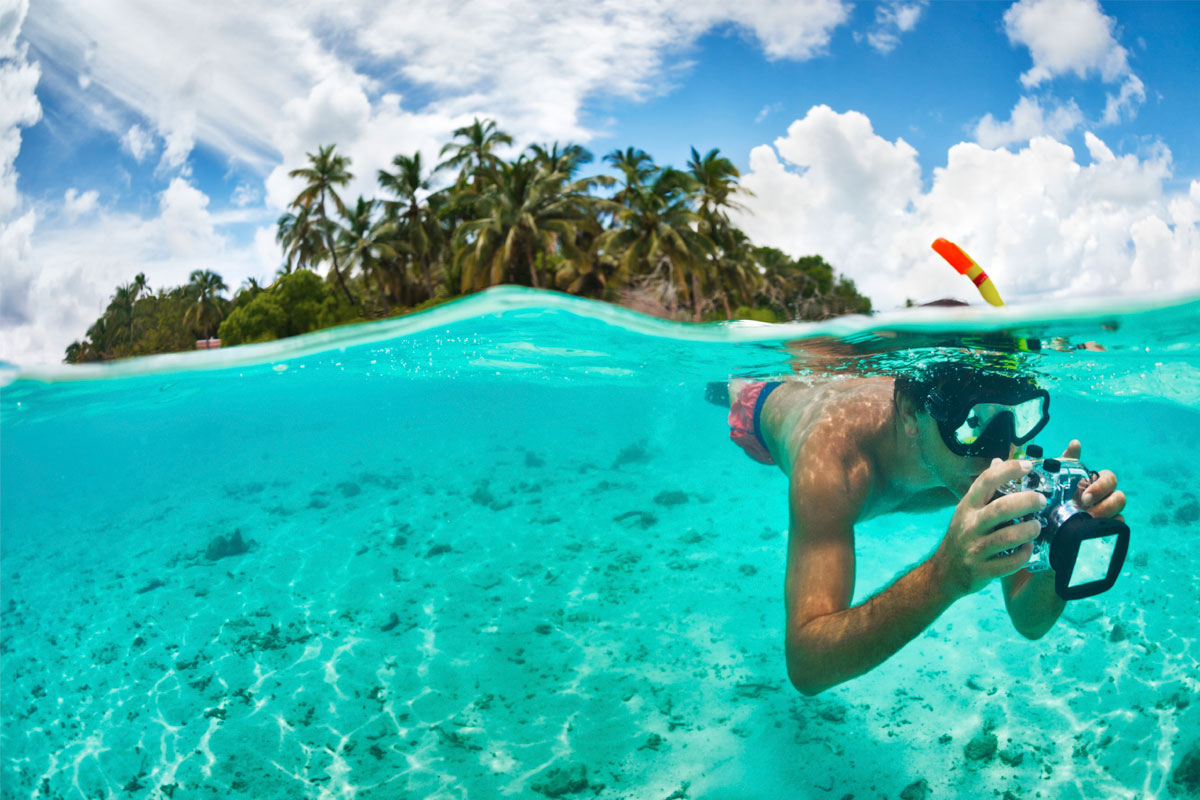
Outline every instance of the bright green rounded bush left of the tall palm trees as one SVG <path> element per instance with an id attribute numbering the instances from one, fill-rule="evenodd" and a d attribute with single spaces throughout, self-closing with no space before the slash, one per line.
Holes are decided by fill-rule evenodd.
<path id="1" fill-rule="evenodd" d="M 221 323 L 221 344 L 250 344 L 299 336 L 358 319 L 355 309 L 308 270 L 283 275 Z"/>

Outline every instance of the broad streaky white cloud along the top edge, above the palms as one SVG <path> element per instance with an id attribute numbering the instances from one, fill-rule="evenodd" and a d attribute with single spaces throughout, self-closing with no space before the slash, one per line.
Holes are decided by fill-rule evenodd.
<path id="1" fill-rule="evenodd" d="M 391 95 L 367 71 L 431 91 L 426 107 L 406 109 L 430 118 L 422 127 L 490 115 L 522 142 L 586 140 L 592 131 L 580 109 L 588 96 L 662 91 L 667 60 L 714 25 L 752 32 L 769 58 L 806 59 L 847 14 L 842 0 L 752 0 L 732 8 L 716 0 L 312 0 L 300 7 L 250 0 L 220 14 L 199 0 L 173 2 L 169 14 L 136 0 L 102 7 L 43 0 L 31 8 L 25 36 L 67 102 L 102 108 L 97 125 L 125 120 L 112 133 L 134 156 L 149 143 L 127 130 L 131 114 L 163 140 L 163 169 L 180 167 L 202 142 L 265 173 L 287 155 L 280 139 L 292 134 L 281 112 L 325 82 L 356 80 L 368 119 L 382 125 Z"/>

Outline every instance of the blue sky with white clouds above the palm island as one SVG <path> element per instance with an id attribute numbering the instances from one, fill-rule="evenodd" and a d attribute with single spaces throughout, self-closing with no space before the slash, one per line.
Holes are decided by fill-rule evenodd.
<path id="1" fill-rule="evenodd" d="M 877 308 L 966 296 L 936 235 L 1009 302 L 1194 293 L 1198 30 L 1196 2 L 0 0 L 0 359 L 59 360 L 138 271 L 269 278 L 305 152 L 372 194 L 475 115 L 598 158 L 719 148 L 751 237 Z"/>

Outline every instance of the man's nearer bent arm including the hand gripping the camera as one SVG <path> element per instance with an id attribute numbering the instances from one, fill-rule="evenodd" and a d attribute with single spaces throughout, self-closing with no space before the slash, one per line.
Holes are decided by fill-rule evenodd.
<path id="1" fill-rule="evenodd" d="M 1039 509 L 1033 492 L 990 498 L 1027 471 L 992 462 L 959 503 L 937 552 L 866 602 L 850 608 L 854 588 L 853 521 L 866 500 L 865 462 L 792 469 L 785 600 L 787 674 L 816 694 L 870 672 L 917 637 L 959 597 L 1016 571 L 1030 558 L 1036 523 L 996 531 L 1004 519 Z M 1014 549 L 1010 555 L 1004 551 Z"/>

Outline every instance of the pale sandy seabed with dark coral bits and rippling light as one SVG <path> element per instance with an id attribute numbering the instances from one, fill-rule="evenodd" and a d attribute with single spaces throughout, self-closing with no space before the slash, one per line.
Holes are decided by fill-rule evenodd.
<path id="1" fill-rule="evenodd" d="M 6 527 L 0 794 L 1200 794 L 1196 548 L 1172 549 L 1194 475 L 1123 468 L 1156 535 L 1043 639 L 990 587 L 806 698 L 782 660 L 785 482 L 716 416 L 690 439 L 263 461 Z M 856 602 L 948 513 L 862 527 Z M 248 552 L 208 558 L 235 530 Z"/>

